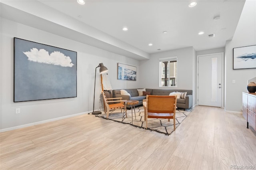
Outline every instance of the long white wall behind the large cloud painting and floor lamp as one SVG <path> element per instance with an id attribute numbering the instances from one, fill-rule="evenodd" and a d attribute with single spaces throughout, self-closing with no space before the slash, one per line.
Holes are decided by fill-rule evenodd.
<path id="1" fill-rule="evenodd" d="M 14 103 L 14 37 L 77 51 L 77 97 Z M 117 63 L 136 66 L 139 72 L 139 61 L 137 60 L 56 36 L 5 18 L 1 18 L 0 38 L 0 129 L 2 130 L 92 111 L 95 67 L 99 63 L 104 63 L 109 69 L 108 74 L 113 89 L 140 87 L 139 81 L 117 80 Z M 100 98 L 99 69 L 97 69 L 96 76 L 95 110 L 101 106 L 98 102 Z M 140 79 L 140 75 L 137 75 L 137 79 Z M 16 108 L 20 108 L 20 114 L 15 114 Z"/>

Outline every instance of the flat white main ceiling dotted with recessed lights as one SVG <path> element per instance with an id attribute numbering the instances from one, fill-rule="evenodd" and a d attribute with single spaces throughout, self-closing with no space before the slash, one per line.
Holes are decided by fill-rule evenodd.
<path id="1" fill-rule="evenodd" d="M 102 32 L 147 53 L 193 46 L 196 51 L 224 47 L 238 24 L 244 0 L 41 0 Z M 214 20 L 220 15 L 220 20 Z M 126 26 L 127 32 L 122 28 Z M 167 31 L 167 34 L 163 34 Z M 204 35 L 198 32 L 204 31 Z M 208 34 L 215 34 L 208 38 Z M 148 43 L 153 45 L 150 47 Z"/>

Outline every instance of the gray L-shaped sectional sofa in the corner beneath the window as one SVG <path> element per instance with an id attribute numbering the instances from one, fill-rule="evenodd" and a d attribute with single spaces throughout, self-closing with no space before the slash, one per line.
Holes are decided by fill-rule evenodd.
<path id="1" fill-rule="evenodd" d="M 142 105 L 143 99 L 146 99 L 146 96 L 139 96 L 137 89 L 124 89 L 129 95 L 121 95 L 121 89 L 113 90 L 113 97 L 122 97 L 122 100 L 138 100 L 139 103 L 135 106 Z M 146 91 L 150 92 L 151 95 L 169 95 L 171 92 L 188 92 L 185 99 L 177 99 L 177 107 L 183 109 L 189 109 L 193 106 L 193 91 L 192 90 L 179 90 L 179 89 L 146 89 Z M 127 108 L 130 108 L 130 105 L 127 105 Z"/>

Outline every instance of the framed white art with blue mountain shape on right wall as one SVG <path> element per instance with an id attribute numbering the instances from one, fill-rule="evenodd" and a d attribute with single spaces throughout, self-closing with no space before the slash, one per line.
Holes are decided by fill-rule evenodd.
<path id="1" fill-rule="evenodd" d="M 256 45 L 233 48 L 233 69 L 256 68 Z"/>

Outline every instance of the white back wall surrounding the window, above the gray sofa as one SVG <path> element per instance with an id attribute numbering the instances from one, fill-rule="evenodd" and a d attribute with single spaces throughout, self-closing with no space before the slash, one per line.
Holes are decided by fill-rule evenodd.
<path id="1" fill-rule="evenodd" d="M 159 87 L 159 58 L 178 57 L 178 79 L 177 87 Z M 193 78 L 195 77 L 196 57 L 193 47 L 175 49 L 153 53 L 149 60 L 140 61 L 140 87 L 151 89 L 185 89 L 194 90 L 196 84 Z M 193 97 L 196 92 L 193 91 Z"/>

